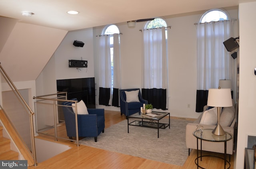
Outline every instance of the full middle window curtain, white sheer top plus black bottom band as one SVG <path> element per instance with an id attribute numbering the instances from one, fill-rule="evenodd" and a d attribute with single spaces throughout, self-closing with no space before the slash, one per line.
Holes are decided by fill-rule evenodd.
<path id="1" fill-rule="evenodd" d="M 154 108 L 166 110 L 169 97 L 166 29 L 145 29 L 142 38 L 142 96 Z"/>

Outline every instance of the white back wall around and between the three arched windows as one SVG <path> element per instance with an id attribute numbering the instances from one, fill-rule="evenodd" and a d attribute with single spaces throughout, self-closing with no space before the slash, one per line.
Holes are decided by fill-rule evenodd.
<path id="1" fill-rule="evenodd" d="M 238 8 L 225 8 L 231 19 L 238 19 Z M 196 110 L 196 26 L 205 11 L 165 16 L 170 30 L 169 44 L 169 108 L 171 116 L 197 118 L 200 113 Z M 121 69 L 122 88 L 141 88 L 142 82 L 142 41 L 141 31 L 146 22 L 136 23 L 135 28 L 128 28 L 126 23 L 116 24 L 121 35 Z M 94 41 L 96 35 L 101 35 L 104 26 L 93 29 Z M 238 22 L 234 23 L 235 35 L 238 33 Z M 95 43 L 95 42 L 94 42 Z M 94 44 L 96 46 L 96 44 Z M 231 56 L 230 56 L 231 57 Z M 94 49 L 95 77 L 98 83 L 97 49 Z M 236 65 L 234 61 L 232 64 Z M 236 66 L 235 66 L 236 67 Z M 98 88 L 98 86 L 97 86 Z M 98 92 L 98 91 L 97 91 Z M 96 104 L 98 93 L 96 92 Z M 106 110 L 120 111 L 120 108 L 97 105 Z M 156 110 L 162 111 L 164 110 Z"/>

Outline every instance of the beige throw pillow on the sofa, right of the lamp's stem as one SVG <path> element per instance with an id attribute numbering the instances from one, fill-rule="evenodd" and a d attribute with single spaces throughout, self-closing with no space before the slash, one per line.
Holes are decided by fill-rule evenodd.
<path id="1" fill-rule="evenodd" d="M 220 125 L 230 126 L 235 117 L 234 107 L 224 107 L 220 115 Z"/>

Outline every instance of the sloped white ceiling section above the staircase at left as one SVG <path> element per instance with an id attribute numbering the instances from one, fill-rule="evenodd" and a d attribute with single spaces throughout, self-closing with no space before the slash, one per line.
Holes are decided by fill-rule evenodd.
<path id="1" fill-rule="evenodd" d="M 36 80 L 67 31 L 19 22 L 14 25 L 12 21 L 8 23 L 8 29 L 0 31 L 6 35 L 4 45 L 0 46 L 1 65 L 14 82 Z"/>

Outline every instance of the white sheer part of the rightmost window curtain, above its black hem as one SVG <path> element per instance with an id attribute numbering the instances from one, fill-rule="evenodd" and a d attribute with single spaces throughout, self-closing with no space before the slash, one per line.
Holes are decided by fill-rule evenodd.
<path id="1" fill-rule="evenodd" d="M 219 79 L 232 79 L 231 56 L 223 45 L 231 24 L 225 20 L 197 25 L 197 90 L 218 88 Z"/>

